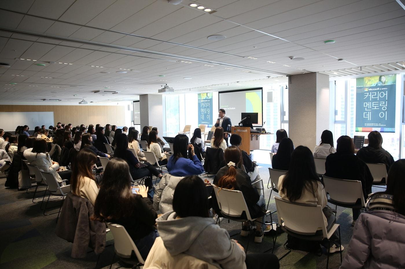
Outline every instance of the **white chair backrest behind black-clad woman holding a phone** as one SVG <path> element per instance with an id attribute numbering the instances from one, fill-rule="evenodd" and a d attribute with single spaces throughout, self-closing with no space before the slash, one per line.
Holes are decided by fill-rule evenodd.
<path id="1" fill-rule="evenodd" d="M 132 251 L 135 252 L 136 258 L 142 264 L 145 264 L 138 248 L 135 246 L 125 227 L 115 223 L 107 222 L 107 226 L 110 228 L 114 237 L 115 253 L 123 258 L 130 258 Z"/>

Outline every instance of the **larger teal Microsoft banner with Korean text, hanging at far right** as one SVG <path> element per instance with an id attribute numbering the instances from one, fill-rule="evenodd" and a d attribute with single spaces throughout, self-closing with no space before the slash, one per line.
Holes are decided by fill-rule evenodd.
<path id="1" fill-rule="evenodd" d="M 356 132 L 395 132 L 396 75 L 356 79 Z"/>

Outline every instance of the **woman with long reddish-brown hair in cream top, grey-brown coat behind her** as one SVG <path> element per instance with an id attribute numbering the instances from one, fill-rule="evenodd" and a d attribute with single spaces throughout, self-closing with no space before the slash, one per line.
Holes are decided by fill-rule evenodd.
<path id="1" fill-rule="evenodd" d="M 72 194 L 88 199 L 93 206 L 98 194 L 98 184 L 93 173 L 96 162 L 96 153 L 91 149 L 82 149 L 75 157 L 70 178 Z"/>

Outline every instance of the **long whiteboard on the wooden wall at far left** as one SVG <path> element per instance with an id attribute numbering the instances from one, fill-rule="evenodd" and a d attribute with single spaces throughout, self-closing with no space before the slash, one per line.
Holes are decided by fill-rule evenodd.
<path id="1" fill-rule="evenodd" d="M 17 126 L 28 125 L 30 130 L 35 126 L 53 125 L 53 111 L 51 112 L 0 112 L 0 128 L 4 131 L 14 131 Z"/>

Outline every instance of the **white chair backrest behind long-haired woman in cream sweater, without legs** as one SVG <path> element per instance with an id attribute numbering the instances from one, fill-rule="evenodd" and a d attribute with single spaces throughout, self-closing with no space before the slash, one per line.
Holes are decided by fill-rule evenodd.
<path id="1" fill-rule="evenodd" d="M 302 235 L 314 235 L 322 228 L 324 237 L 328 232 L 323 219 L 322 206 L 315 204 L 299 204 L 275 197 L 279 225 Z"/>

